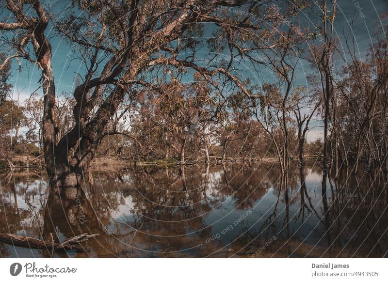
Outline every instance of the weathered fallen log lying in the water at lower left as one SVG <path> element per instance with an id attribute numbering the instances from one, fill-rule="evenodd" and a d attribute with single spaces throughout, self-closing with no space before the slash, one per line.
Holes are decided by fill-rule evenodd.
<path id="1" fill-rule="evenodd" d="M 88 235 L 87 233 L 77 235 L 71 238 L 66 239 L 63 242 L 60 243 L 54 243 L 53 241 L 47 241 L 47 240 L 39 240 L 32 237 L 27 236 L 19 236 L 15 234 L 9 234 L 9 233 L 0 233 L 0 241 L 17 245 L 21 247 L 28 247 L 30 249 L 46 249 L 48 251 L 63 251 L 63 250 L 84 250 L 80 246 L 75 246 L 80 244 L 81 242 L 84 242 L 90 238 L 94 238 L 98 236 L 99 234 L 92 234 Z"/>

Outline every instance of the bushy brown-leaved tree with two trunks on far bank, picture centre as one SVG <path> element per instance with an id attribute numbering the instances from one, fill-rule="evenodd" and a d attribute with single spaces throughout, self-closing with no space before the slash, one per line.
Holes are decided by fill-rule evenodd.
<path id="1" fill-rule="evenodd" d="M 185 163 L 186 146 L 203 150 L 209 162 L 209 149 L 226 109 L 222 94 L 204 81 L 168 83 L 170 88 L 158 108 L 170 137 L 170 146 Z"/>

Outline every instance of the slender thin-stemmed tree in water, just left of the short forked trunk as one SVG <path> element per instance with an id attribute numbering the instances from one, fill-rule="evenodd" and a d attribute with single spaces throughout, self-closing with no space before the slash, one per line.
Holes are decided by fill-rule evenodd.
<path id="1" fill-rule="evenodd" d="M 293 138 L 289 129 L 294 105 L 291 95 L 297 88 L 295 80 L 298 65 L 301 65 L 300 57 L 305 52 L 306 34 L 291 21 L 270 32 L 264 40 L 272 47 L 261 51 L 257 64 L 264 65 L 269 78 L 261 86 L 262 96 L 255 101 L 253 113 L 272 137 L 282 172 L 285 173 L 289 168 L 290 139 Z M 281 141 L 275 136 L 278 129 L 282 132 Z"/>

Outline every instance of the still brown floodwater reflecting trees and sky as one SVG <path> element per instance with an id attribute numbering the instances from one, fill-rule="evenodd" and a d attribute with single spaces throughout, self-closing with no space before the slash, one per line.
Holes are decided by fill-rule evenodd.
<path id="1" fill-rule="evenodd" d="M 94 172 L 74 197 L 39 172 L 1 174 L 0 233 L 63 241 L 54 257 L 387 257 L 387 178 L 343 171 L 322 187 L 319 164 L 226 164 Z M 301 185 L 302 183 L 302 185 Z M 52 239 L 51 239 L 52 238 Z M 1 257 L 50 257 L 0 242 Z"/>

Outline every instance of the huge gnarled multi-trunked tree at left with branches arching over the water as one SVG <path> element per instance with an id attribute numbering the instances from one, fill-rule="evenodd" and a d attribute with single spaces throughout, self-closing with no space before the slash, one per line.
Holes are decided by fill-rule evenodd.
<path id="1" fill-rule="evenodd" d="M 254 97 L 255 92 L 238 73 L 241 58 L 252 48 L 268 48 L 259 40 L 263 26 L 278 25 L 296 15 L 300 5 L 305 6 L 302 2 L 286 1 L 280 9 L 277 1 L 256 0 L 171 0 L 167 4 L 162 0 L 73 0 L 69 7 L 57 7 L 59 12 L 55 12 L 56 4 L 40 0 L 2 1 L 0 30 L 7 55 L 1 65 L 24 59 L 42 73 L 42 139 L 52 187 L 79 183 L 123 101 L 139 89 L 158 88 L 170 79 L 168 73 L 172 77 L 198 73 L 209 83 Z M 221 52 L 209 52 L 199 60 L 197 51 L 210 44 L 204 38 L 205 24 L 225 40 L 217 43 Z M 75 125 L 61 139 L 55 134 L 51 27 L 76 46 L 73 56 L 78 55 L 84 64 L 72 93 Z M 257 44 L 247 47 L 248 41 Z M 72 148 L 76 148 L 74 157 L 68 155 Z"/>

